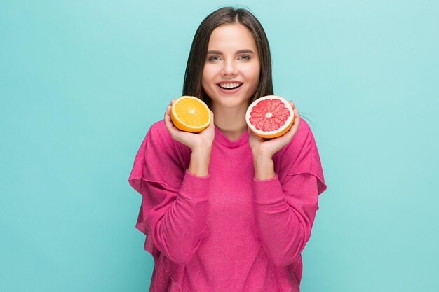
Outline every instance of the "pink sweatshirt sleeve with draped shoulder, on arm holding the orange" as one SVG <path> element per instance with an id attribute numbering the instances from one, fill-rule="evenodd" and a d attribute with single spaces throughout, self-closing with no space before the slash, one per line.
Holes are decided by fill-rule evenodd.
<path id="1" fill-rule="evenodd" d="M 136 228 L 146 235 L 144 249 L 155 249 L 175 263 L 188 263 L 205 232 L 209 176 L 187 171 L 189 148 L 174 141 L 163 121 L 148 131 L 128 179 L 142 195 Z"/>

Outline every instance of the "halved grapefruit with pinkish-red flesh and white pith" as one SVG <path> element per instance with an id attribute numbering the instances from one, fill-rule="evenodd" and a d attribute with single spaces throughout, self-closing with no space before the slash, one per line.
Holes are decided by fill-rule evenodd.
<path id="1" fill-rule="evenodd" d="M 257 136 L 271 139 L 290 130 L 294 122 L 294 111 L 283 97 L 268 95 L 250 104 L 245 120 L 249 129 Z"/>

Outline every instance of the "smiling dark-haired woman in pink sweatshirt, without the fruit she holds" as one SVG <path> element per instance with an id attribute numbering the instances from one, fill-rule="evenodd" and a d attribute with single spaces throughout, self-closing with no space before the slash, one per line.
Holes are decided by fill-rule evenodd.
<path id="1" fill-rule="evenodd" d="M 248 131 L 250 102 L 273 95 L 269 43 L 255 16 L 221 8 L 201 22 L 183 95 L 203 99 L 212 123 L 182 132 L 168 106 L 129 178 L 142 194 L 136 227 L 154 257 L 150 291 L 299 291 L 300 253 L 326 186 L 294 104 L 294 125 L 282 137 Z"/>

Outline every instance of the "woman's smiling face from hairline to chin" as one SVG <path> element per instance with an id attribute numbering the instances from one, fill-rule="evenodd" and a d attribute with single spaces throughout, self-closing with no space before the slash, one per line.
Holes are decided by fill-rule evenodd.
<path id="1" fill-rule="evenodd" d="M 255 39 L 247 27 L 234 23 L 213 30 L 201 85 L 213 107 L 243 107 L 255 94 L 260 62 Z"/>

